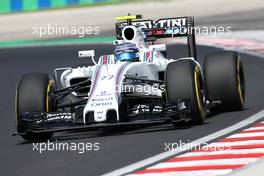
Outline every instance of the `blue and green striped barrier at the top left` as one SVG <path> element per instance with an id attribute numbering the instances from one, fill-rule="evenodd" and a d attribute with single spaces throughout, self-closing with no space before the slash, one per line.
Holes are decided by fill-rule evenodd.
<path id="1" fill-rule="evenodd" d="M 37 11 L 71 6 L 119 3 L 126 0 L 0 0 L 0 13 Z"/>

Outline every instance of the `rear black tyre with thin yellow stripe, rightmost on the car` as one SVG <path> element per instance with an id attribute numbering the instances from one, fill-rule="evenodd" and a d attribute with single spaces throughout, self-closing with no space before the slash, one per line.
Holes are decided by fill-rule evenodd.
<path id="1" fill-rule="evenodd" d="M 221 101 L 211 111 L 242 110 L 245 103 L 243 65 L 237 52 L 225 51 L 206 56 L 204 75 L 209 101 Z"/>

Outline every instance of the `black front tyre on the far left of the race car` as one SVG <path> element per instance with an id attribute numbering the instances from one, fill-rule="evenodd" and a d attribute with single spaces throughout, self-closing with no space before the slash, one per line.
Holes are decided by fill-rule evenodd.
<path id="1" fill-rule="evenodd" d="M 28 124 L 21 120 L 23 112 L 50 112 L 52 100 L 50 92 L 53 90 L 52 81 L 48 74 L 33 73 L 22 76 L 16 93 L 16 120 L 17 132 L 25 133 L 22 136 L 25 140 L 47 140 L 53 133 L 30 133 L 27 132 Z"/>

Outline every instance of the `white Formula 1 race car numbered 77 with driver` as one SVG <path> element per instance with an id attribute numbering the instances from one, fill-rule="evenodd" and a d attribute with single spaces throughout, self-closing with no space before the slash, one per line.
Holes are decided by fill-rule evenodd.
<path id="1" fill-rule="evenodd" d="M 17 133 L 45 140 L 54 132 L 109 127 L 202 124 L 209 112 L 242 110 L 245 81 L 238 53 L 197 61 L 193 17 L 116 18 L 115 50 L 93 66 L 22 76 L 16 94 Z M 166 58 L 160 38 L 186 37 L 188 57 Z"/>

